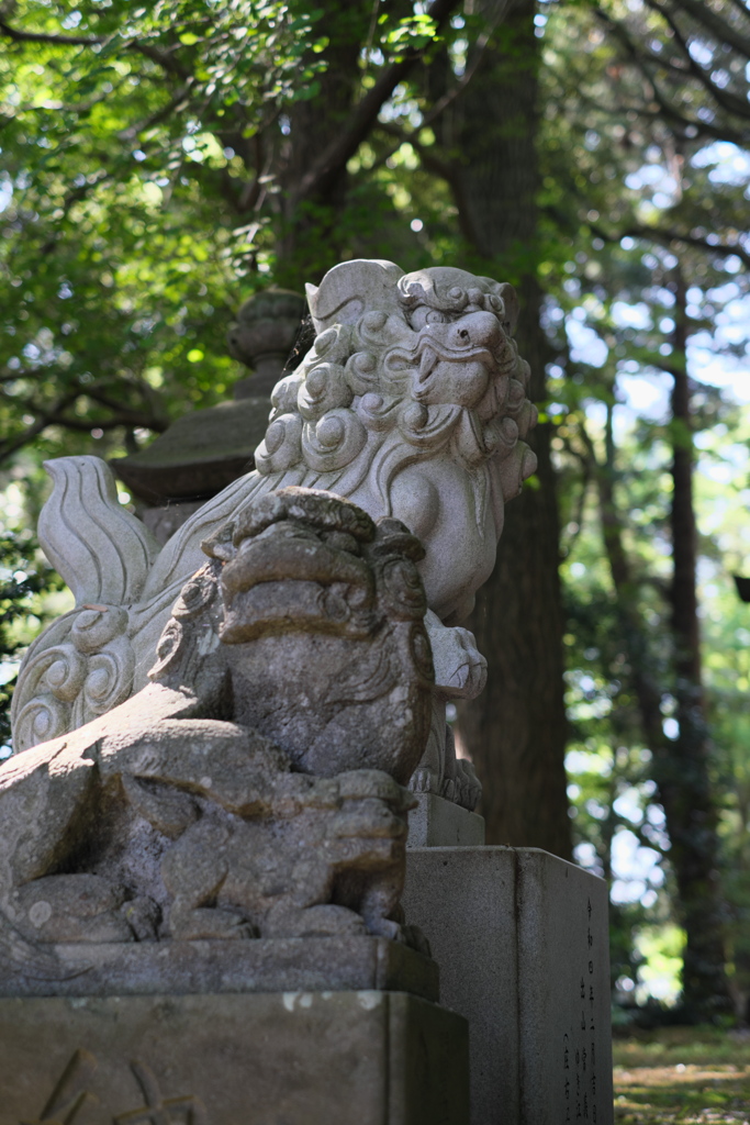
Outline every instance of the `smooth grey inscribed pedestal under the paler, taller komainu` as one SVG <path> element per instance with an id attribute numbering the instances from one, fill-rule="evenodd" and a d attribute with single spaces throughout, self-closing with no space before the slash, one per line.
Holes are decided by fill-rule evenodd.
<path id="1" fill-rule="evenodd" d="M 472 1125 L 611 1125 L 604 881 L 535 848 L 416 848 L 403 901 L 469 1020 Z"/>

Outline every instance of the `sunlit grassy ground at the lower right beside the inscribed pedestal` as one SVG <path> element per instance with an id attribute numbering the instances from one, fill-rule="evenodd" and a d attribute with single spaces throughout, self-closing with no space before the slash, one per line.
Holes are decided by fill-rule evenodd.
<path id="1" fill-rule="evenodd" d="M 614 1061 L 616 1125 L 750 1125 L 750 1032 L 635 1033 Z"/>

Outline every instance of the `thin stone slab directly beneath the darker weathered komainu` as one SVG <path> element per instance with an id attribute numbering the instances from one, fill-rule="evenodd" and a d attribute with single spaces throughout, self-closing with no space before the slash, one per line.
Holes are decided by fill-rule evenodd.
<path id="1" fill-rule="evenodd" d="M 48 945 L 19 974 L 0 963 L 0 996 L 153 996 L 378 989 L 439 999 L 437 965 L 382 937 Z"/>

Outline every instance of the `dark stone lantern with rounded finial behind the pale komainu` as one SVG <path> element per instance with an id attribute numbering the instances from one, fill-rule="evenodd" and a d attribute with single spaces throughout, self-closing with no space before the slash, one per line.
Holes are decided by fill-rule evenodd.
<path id="1" fill-rule="evenodd" d="M 305 298 L 289 289 L 250 297 L 227 333 L 229 354 L 251 369 L 235 382 L 233 398 L 190 411 L 146 449 L 112 461 L 119 478 L 147 505 L 141 515 L 161 543 L 207 500 L 254 468 L 271 392 L 304 315 Z"/>

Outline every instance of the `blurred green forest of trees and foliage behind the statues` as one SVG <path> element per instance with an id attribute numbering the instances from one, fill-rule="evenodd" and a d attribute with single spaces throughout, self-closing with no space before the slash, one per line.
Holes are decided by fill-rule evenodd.
<path id="1" fill-rule="evenodd" d="M 608 880 L 623 1012 L 747 1018 L 749 79 L 744 0 L 0 4 L 6 742 L 69 605 L 44 459 L 228 397 L 269 285 L 354 256 L 512 281 L 540 467 L 454 717 L 488 842 Z"/>

